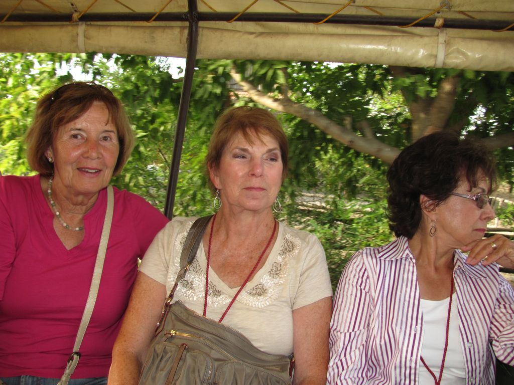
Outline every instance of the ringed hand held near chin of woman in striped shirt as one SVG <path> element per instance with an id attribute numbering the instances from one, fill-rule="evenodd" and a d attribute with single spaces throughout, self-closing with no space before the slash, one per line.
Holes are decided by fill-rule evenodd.
<path id="1" fill-rule="evenodd" d="M 467 263 L 476 265 L 482 262 L 483 265 L 489 265 L 497 262 L 506 268 L 514 268 L 514 241 L 500 234 L 495 234 L 489 238 L 483 238 L 473 241 L 464 247 L 463 252 L 469 251 Z"/>

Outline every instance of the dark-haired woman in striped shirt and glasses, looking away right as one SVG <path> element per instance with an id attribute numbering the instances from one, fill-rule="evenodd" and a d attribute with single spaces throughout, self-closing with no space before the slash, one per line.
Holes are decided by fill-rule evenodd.
<path id="1" fill-rule="evenodd" d="M 334 298 L 328 384 L 494 383 L 514 364 L 514 242 L 483 238 L 494 161 L 445 133 L 405 148 L 388 171 L 396 240 L 347 263 Z M 463 252 L 469 252 L 466 256 Z"/>

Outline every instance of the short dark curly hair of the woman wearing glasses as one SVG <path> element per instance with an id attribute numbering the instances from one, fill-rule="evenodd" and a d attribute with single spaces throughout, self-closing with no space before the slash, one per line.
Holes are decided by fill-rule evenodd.
<path id="1" fill-rule="evenodd" d="M 412 238 L 421 223 L 421 195 L 437 206 L 462 179 L 474 188 L 482 176 L 490 194 L 497 181 L 495 161 L 478 140 L 445 132 L 420 138 L 400 152 L 387 172 L 389 227 L 397 237 Z"/>

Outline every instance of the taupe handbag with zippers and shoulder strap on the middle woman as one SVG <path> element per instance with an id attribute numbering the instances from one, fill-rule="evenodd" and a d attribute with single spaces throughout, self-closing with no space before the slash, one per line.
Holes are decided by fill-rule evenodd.
<path id="1" fill-rule="evenodd" d="M 209 219 L 197 219 L 188 233 L 139 385 L 291 384 L 292 356 L 265 353 L 237 330 L 193 312 L 181 301 L 171 303 Z"/>

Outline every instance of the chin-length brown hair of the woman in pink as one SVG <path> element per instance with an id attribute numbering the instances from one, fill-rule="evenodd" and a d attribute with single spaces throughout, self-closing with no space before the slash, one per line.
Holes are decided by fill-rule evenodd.
<path id="1" fill-rule="evenodd" d="M 27 159 L 33 170 L 46 177 L 53 174 L 53 163 L 46 159 L 45 152 L 59 127 L 80 118 L 94 102 L 105 104 L 116 126 L 120 151 L 113 175 L 119 174 L 134 147 L 134 133 L 120 100 L 106 87 L 92 82 L 65 84 L 39 99 L 25 137 Z"/>

